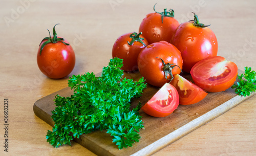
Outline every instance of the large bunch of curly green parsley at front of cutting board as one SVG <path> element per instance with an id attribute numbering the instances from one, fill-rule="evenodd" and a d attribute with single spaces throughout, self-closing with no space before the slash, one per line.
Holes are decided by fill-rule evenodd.
<path id="1" fill-rule="evenodd" d="M 68 84 L 74 94 L 55 96 L 57 107 L 52 111 L 55 125 L 47 132 L 47 142 L 54 147 L 70 145 L 73 138 L 83 133 L 103 129 L 113 136 L 119 149 L 139 142 L 139 129 L 144 127 L 138 112 L 141 104 L 131 110 L 130 102 L 142 95 L 146 84 L 143 78 L 137 82 L 122 78 L 122 65 L 122 59 L 113 58 L 100 77 L 93 73 L 70 77 Z"/>

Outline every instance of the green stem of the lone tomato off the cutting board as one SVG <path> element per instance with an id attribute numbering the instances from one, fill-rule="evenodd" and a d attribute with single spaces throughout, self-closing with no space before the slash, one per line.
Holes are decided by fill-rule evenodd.
<path id="1" fill-rule="evenodd" d="M 59 24 L 56 24 L 56 25 L 59 25 Z M 55 25 L 55 26 L 56 26 L 56 25 Z M 47 41 L 45 41 L 44 43 L 42 43 L 42 41 L 40 42 L 39 46 L 41 45 L 41 43 L 42 43 L 42 45 L 41 45 L 41 48 L 40 48 L 40 54 L 39 54 L 39 55 L 41 55 L 42 49 L 43 49 L 43 48 L 46 46 L 46 44 L 48 44 L 48 43 L 57 43 L 58 41 L 61 41 L 61 42 L 64 43 L 65 45 L 69 46 L 69 43 L 63 42 L 63 41 L 65 40 L 64 38 L 58 38 L 58 37 L 57 37 L 57 33 L 56 33 L 56 31 L 55 31 L 55 26 L 53 27 L 53 37 L 51 36 L 50 31 L 47 29 L 48 32 L 49 32 L 49 36 L 50 36 L 50 37 L 45 37 L 44 39 L 42 39 L 42 41 L 47 40 Z"/>

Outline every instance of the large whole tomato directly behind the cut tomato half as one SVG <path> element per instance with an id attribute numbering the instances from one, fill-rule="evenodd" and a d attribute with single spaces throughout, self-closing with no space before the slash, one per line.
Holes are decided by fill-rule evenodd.
<path id="1" fill-rule="evenodd" d="M 208 26 L 199 23 L 197 15 L 194 21 L 182 23 L 175 31 L 170 43 L 174 44 L 183 59 L 183 71 L 189 73 L 198 61 L 217 56 L 217 38 Z"/>

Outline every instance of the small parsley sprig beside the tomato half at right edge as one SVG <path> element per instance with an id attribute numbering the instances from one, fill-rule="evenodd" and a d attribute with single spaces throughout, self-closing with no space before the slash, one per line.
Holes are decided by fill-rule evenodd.
<path id="1" fill-rule="evenodd" d="M 238 75 L 237 84 L 234 83 L 231 88 L 238 95 L 249 96 L 252 92 L 256 91 L 256 72 L 246 66 L 244 74 Z"/>

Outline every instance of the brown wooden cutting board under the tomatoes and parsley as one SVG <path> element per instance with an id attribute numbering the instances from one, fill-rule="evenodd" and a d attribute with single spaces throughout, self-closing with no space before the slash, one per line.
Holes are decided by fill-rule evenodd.
<path id="1" fill-rule="evenodd" d="M 239 70 L 239 74 L 241 73 L 242 71 Z M 183 74 L 182 76 L 192 81 L 190 75 Z M 141 75 L 139 73 L 125 73 L 124 77 L 137 81 Z M 139 101 L 142 105 L 145 104 L 158 90 L 158 87 L 147 84 L 142 97 L 133 99 L 131 107 L 135 107 Z M 35 115 L 51 126 L 54 125 L 51 118 L 51 111 L 55 109 L 53 99 L 57 94 L 60 96 L 70 96 L 73 92 L 69 87 L 63 88 L 58 92 L 37 100 L 33 106 Z M 253 95 L 255 93 L 246 97 L 238 96 L 231 88 L 225 92 L 208 93 L 202 101 L 192 105 L 179 105 L 173 114 L 164 118 L 151 117 L 140 110 L 145 129 L 140 130 L 140 142 L 134 143 L 133 147 L 119 150 L 115 143 L 112 143 L 112 137 L 106 133 L 106 130 L 82 135 L 79 139 L 75 139 L 75 141 L 97 155 L 151 155 L 210 120 L 222 115 Z"/>

